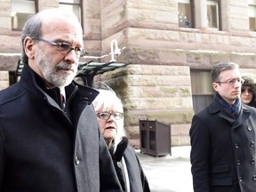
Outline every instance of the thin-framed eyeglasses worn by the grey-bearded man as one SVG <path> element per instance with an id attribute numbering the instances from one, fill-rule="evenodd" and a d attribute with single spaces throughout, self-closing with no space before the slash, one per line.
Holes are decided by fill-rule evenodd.
<path id="1" fill-rule="evenodd" d="M 48 41 L 48 40 L 45 40 L 43 38 L 34 38 L 38 41 L 44 41 L 45 43 L 48 43 L 48 44 L 52 44 L 52 46 L 57 46 L 57 50 L 62 53 L 62 54 L 68 54 L 68 52 L 71 52 L 72 50 L 75 50 L 76 52 L 76 57 L 77 58 L 83 58 L 86 54 L 88 54 L 88 52 L 86 52 L 84 50 L 84 48 L 82 47 L 71 47 L 70 44 L 68 43 L 55 43 L 55 42 L 51 42 L 51 41 Z"/>

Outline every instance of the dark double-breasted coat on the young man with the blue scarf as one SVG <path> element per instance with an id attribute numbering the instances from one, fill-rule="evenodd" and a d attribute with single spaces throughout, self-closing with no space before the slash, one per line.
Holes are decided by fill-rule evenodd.
<path id="1" fill-rule="evenodd" d="M 213 100 L 190 129 L 195 192 L 254 192 L 256 111 L 242 104 L 235 119 Z"/>

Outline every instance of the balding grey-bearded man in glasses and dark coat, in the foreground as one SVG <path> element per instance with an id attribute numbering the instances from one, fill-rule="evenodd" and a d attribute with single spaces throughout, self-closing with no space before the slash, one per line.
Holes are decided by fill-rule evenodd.
<path id="1" fill-rule="evenodd" d="M 92 108 L 98 92 L 73 81 L 84 56 L 78 20 L 44 10 L 21 39 L 20 82 L 0 92 L 0 191 L 121 192 Z"/>

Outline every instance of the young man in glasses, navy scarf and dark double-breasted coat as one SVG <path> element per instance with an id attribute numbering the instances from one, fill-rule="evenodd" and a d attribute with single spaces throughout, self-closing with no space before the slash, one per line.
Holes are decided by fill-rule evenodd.
<path id="1" fill-rule="evenodd" d="M 193 117 L 190 138 L 195 192 L 254 192 L 256 188 L 256 111 L 241 103 L 238 65 L 212 68 L 216 94 Z"/>

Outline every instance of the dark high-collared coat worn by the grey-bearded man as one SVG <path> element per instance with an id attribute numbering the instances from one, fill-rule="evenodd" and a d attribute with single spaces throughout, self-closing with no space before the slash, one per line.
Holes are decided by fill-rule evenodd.
<path id="1" fill-rule="evenodd" d="M 0 191 L 121 191 L 91 105 L 98 92 L 73 82 L 64 112 L 59 88 L 46 94 L 38 79 L 26 64 L 0 92 Z"/>

